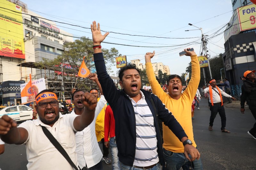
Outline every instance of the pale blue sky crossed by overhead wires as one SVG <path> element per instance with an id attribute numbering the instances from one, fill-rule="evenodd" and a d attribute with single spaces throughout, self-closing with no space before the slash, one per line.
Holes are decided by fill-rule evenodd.
<path id="1" fill-rule="evenodd" d="M 78 37 L 92 38 L 91 30 L 87 28 L 90 28 L 92 21 L 95 20 L 100 23 L 101 30 L 110 32 L 104 41 L 115 43 L 102 43 L 102 48 L 115 47 L 120 54 L 127 56 L 128 62 L 140 59 L 140 63 L 143 64 L 145 64 L 146 52 L 155 50 L 156 55 L 151 60 L 152 63 L 162 62 L 169 66 L 171 74 L 178 75 L 185 72 L 191 61 L 189 56 L 180 57 L 179 52 L 189 47 L 194 48 L 197 55 L 200 53 L 202 33 L 194 26 L 202 27 L 204 35 L 208 35 L 206 36 L 209 38 L 208 54 L 214 57 L 225 52 L 222 32 L 232 16 L 231 0 L 44 0 L 40 3 L 35 0 L 22 0 L 22 2 L 28 5 L 29 10 L 47 19 L 86 27 L 57 23 L 60 29 Z M 194 26 L 189 26 L 188 23 Z M 218 30 L 220 31 L 217 34 L 221 34 L 212 38 Z M 193 41 L 194 43 L 189 46 L 183 45 Z M 113 71 L 116 75 L 115 67 Z"/>

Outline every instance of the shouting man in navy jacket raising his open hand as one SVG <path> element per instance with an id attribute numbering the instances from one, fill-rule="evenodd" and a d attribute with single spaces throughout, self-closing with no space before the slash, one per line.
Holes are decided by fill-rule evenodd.
<path id="1" fill-rule="evenodd" d="M 199 159 L 200 153 L 191 145 L 192 142 L 172 113 L 156 95 L 141 89 L 140 71 L 135 65 L 125 66 L 120 70 L 119 84 L 123 90 L 116 89 L 107 73 L 100 46 L 108 33 L 102 35 L 100 24 L 98 23 L 97 27 L 95 21 L 91 30 L 98 79 L 116 121 L 116 144 L 121 169 L 134 167 L 153 170 L 160 169 L 159 163 L 164 165 L 158 118 L 183 143 L 186 158 L 191 161 Z"/>

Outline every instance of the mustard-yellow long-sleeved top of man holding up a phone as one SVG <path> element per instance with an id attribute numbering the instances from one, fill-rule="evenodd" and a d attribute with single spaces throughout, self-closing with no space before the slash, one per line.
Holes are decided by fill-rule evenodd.
<path id="1" fill-rule="evenodd" d="M 193 135 L 192 119 L 191 119 L 191 105 L 196 94 L 196 89 L 200 81 L 200 66 L 197 55 L 191 56 L 192 75 L 188 83 L 188 87 L 181 94 L 180 99 L 174 100 L 169 94 L 166 94 L 161 85 L 157 82 L 154 75 L 151 63 L 146 63 L 146 72 L 148 81 L 152 88 L 153 93 L 165 104 L 165 107 L 172 112 L 172 115 L 177 119 L 188 138 L 192 141 L 193 146 L 196 147 Z M 181 89 L 180 89 L 181 90 Z M 163 124 L 163 139 L 164 149 L 176 153 L 184 152 L 184 146 L 180 140 L 172 133 L 172 131 Z"/>

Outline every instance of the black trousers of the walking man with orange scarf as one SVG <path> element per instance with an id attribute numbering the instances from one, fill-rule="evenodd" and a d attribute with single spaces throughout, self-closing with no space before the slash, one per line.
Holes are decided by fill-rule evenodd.
<path id="1" fill-rule="evenodd" d="M 226 127 L 226 113 L 224 106 L 221 106 L 221 103 L 213 103 L 213 106 L 210 105 L 211 116 L 210 116 L 210 126 L 213 126 L 214 119 L 219 112 L 220 119 L 221 119 L 221 130 L 225 129 Z"/>

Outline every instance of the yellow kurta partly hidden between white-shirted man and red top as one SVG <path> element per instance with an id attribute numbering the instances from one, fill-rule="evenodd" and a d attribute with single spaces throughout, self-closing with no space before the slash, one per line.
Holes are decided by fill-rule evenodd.
<path id="1" fill-rule="evenodd" d="M 98 101 L 100 98 L 98 98 Z M 107 108 L 107 104 L 101 109 L 100 114 L 97 116 L 95 122 L 95 132 L 97 141 L 100 142 L 102 138 L 104 138 L 104 119 L 105 119 L 105 110 Z"/>

